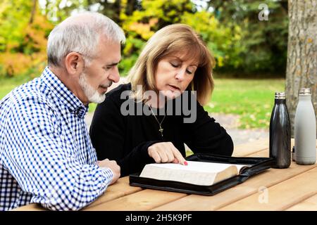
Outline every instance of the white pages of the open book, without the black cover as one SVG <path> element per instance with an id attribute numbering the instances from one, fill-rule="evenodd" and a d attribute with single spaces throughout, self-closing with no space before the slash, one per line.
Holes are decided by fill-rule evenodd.
<path id="1" fill-rule="evenodd" d="M 152 163 L 145 165 L 140 177 L 163 181 L 179 181 L 187 184 L 211 186 L 240 174 L 248 165 L 216 162 L 187 161 L 188 165 L 175 163 Z"/>

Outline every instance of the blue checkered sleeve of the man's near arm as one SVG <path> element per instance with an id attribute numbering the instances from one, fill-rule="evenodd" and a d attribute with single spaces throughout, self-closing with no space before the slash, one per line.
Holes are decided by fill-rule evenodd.
<path id="1" fill-rule="evenodd" d="M 61 134 L 56 112 L 35 98 L 13 104 L 4 166 L 32 194 L 31 203 L 49 210 L 80 210 L 104 193 L 113 172 L 79 162 L 76 149 Z"/>

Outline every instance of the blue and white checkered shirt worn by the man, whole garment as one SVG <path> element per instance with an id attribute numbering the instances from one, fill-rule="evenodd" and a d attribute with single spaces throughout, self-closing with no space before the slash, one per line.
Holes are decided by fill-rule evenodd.
<path id="1" fill-rule="evenodd" d="M 79 210 L 104 193 L 113 172 L 96 165 L 86 113 L 49 68 L 0 101 L 0 210 Z"/>

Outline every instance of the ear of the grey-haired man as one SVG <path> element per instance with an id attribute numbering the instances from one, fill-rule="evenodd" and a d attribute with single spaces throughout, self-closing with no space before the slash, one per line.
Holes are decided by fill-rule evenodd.
<path id="1" fill-rule="evenodd" d="M 70 75 L 81 73 L 85 66 L 84 64 L 84 59 L 82 58 L 80 53 L 71 52 L 68 53 L 68 55 L 65 57 L 66 70 Z"/>

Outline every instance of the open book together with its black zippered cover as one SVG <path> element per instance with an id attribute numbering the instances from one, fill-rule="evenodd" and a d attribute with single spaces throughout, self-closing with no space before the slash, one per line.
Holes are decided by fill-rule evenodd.
<path id="1" fill-rule="evenodd" d="M 241 184 L 274 165 L 273 158 L 232 157 L 195 153 L 188 165 L 149 164 L 142 172 L 129 175 L 129 184 L 142 188 L 197 195 L 215 195 Z"/>

